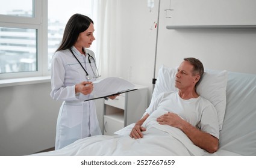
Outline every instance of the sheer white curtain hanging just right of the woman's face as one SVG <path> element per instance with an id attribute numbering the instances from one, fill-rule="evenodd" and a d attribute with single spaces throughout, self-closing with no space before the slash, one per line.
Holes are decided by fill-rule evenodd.
<path id="1" fill-rule="evenodd" d="M 96 59 L 99 73 L 102 77 L 120 76 L 120 67 L 117 64 L 117 8 L 118 0 L 95 0 L 94 17 L 96 18 Z"/>

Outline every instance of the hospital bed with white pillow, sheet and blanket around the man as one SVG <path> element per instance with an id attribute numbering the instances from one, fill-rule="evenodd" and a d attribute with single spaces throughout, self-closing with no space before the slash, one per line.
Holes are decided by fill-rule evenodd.
<path id="1" fill-rule="evenodd" d="M 160 67 L 151 102 L 161 92 L 175 90 L 175 72 L 175 68 Z M 256 155 L 256 75 L 205 70 L 196 89 L 217 110 L 220 140 L 219 149 L 213 154 L 167 125 L 155 124 L 143 139 L 131 139 L 131 124 L 114 136 L 87 137 L 58 151 L 36 155 Z"/>

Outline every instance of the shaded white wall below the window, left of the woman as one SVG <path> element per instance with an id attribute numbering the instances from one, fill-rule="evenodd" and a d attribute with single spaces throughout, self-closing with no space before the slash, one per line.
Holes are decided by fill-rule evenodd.
<path id="1" fill-rule="evenodd" d="M 28 155 L 54 147 L 60 103 L 51 83 L 0 88 L 0 155 Z"/>

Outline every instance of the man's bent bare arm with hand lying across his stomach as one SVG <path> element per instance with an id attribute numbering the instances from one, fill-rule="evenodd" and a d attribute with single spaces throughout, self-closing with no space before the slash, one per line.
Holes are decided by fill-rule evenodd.
<path id="1" fill-rule="evenodd" d="M 166 113 L 160 116 L 157 121 L 159 124 L 167 124 L 172 127 L 180 128 L 196 146 L 210 153 L 216 152 L 218 149 L 219 140 L 216 137 L 198 130 L 175 113 Z"/>

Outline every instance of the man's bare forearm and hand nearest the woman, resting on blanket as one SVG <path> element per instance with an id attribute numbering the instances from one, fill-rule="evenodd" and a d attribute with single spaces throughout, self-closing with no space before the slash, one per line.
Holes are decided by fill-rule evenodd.
<path id="1" fill-rule="evenodd" d="M 148 118 L 149 114 L 146 113 L 145 116 L 143 116 L 142 119 L 140 119 L 136 124 L 134 125 L 133 129 L 131 130 L 130 137 L 134 139 L 139 139 L 143 137 L 142 131 L 146 131 L 144 127 L 142 127 L 143 122 Z"/>

